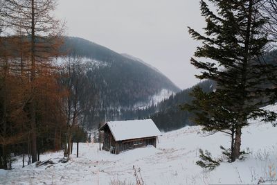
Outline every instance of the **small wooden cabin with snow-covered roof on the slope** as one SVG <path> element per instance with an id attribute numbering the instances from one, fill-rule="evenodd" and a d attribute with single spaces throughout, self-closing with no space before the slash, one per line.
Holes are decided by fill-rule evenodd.
<path id="1" fill-rule="evenodd" d="M 103 150 L 119 152 L 152 145 L 157 146 L 157 136 L 161 135 L 152 119 L 111 121 L 100 127 L 104 131 Z"/>

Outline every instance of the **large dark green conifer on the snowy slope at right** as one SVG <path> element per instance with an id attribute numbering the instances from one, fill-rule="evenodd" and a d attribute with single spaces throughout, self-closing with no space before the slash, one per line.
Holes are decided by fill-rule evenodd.
<path id="1" fill-rule="evenodd" d="M 267 17 L 260 12 L 261 0 L 208 0 L 215 6 L 211 10 L 204 0 L 200 1 L 202 16 L 205 17 L 204 34 L 189 28 L 193 39 L 202 42 L 195 51 L 191 64 L 201 73 L 199 79 L 210 79 L 217 83 L 211 93 L 195 89 L 195 100 L 185 109 L 196 112 L 195 123 L 208 131 L 229 131 L 231 134 L 230 161 L 239 159 L 242 127 L 250 118 L 275 118 L 273 112 L 260 107 L 268 83 L 267 70 L 271 67 L 258 62 L 265 54 L 268 35 L 263 26 Z"/>

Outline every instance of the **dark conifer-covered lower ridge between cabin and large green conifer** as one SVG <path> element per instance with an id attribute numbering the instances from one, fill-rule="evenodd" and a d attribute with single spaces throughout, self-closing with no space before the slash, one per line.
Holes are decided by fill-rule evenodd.
<path id="1" fill-rule="evenodd" d="M 172 94 L 168 99 L 162 100 L 157 105 L 151 105 L 145 109 L 120 109 L 116 118 L 120 120 L 152 118 L 160 130 L 168 132 L 186 125 L 194 125 L 190 120 L 193 116 L 190 112 L 182 111 L 181 105 L 190 103 L 193 99 L 190 93 L 199 86 L 204 91 L 213 91 L 215 83 L 211 80 L 199 82 L 199 84 L 184 89 L 177 94 Z"/>

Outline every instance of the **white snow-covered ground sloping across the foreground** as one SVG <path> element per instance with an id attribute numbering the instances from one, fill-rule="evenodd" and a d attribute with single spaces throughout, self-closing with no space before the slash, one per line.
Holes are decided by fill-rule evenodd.
<path id="1" fill-rule="evenodd" d="M 277 107 L 273 107 L 277 109 Z M 200 127 L 184 127 L 159 137 L 157 148 L 147 147 L 112 155 L 99 151 L 98 143 L 81 143 L 80 156 L 46 168 L 30 165 L 15 170 L 0 170 L 0 184 L 110 184 L 121 181 L 135 184 L 135 168 L 141 168 L 145 184 L 277 184 L 277 127 L 251 121 L 242 130 L 242 149 L 250 152 L 243 161 L 222 164 L 209 172 L 195 164 L 198 149 L 220 157 L 220 145 L 229 147 L 229 137 L 222 133 L 203 136 Z M 49 152 L 42 160 L 58 161 L 62 152 Z M 46 168 L 46 169 L 45 169 Z"/>

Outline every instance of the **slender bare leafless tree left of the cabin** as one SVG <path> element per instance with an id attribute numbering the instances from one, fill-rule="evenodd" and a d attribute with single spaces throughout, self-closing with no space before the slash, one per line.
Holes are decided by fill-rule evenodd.
<path id="1" fill-rule="evenodd" d="M 82 59 L 78 57 L 69 57 L 64 59 L 62 64 L 62 85 L 67 91 L 64 98 L 64 114 L 66 114 L 66 143 L 64 143 L 64 156 L 69 157 L 71 153 L 71 141 L 73 128 L 80 125 L 82 116 L 89 108 L 89 95 L 86 94 L 86 88 L 89 88 L 89 82 L 85 75 Z"/>

